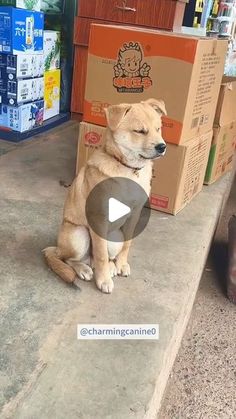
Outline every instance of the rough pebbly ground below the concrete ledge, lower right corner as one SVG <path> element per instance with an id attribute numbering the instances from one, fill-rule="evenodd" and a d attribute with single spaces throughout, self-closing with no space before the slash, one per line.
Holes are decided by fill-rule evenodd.
<path id="1" fill-rule="evenodd" d="M 220 219 L 159 419 L 235 419 L 236 306 L 226 298 L 228 220 L 236 178 Z"/>

